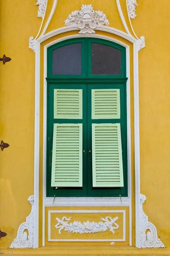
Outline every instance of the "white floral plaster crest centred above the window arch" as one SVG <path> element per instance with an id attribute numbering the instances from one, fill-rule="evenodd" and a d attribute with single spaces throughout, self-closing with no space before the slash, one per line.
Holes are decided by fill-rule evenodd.
<path id="1" fill-rule="evenodd" d="M 94 11 L 90 5 L 82 5 L 81 10 L 71 12 L 65 20 L 66 26 L 77 26 L 80 34 L 95 33 L 96 26 L 109 25 L 107 16 L 100 11 Z"/>

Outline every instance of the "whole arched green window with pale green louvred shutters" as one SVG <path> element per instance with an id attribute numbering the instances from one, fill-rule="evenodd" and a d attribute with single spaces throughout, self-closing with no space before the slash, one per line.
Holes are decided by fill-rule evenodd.
<path id="1" fill-rule="evenodd" d="M 46 195 L 127 196 L 125 48 L 78 38 L 47 59 Z"/>

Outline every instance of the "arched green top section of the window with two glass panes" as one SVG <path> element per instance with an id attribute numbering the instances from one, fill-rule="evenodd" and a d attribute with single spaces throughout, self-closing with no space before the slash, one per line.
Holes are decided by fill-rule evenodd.
<path id="1" fill-rule="evenodd" d="M 48 48 L 48 78 L 126 77 L 126 50 L 98 38 L 69 39 Z"/>

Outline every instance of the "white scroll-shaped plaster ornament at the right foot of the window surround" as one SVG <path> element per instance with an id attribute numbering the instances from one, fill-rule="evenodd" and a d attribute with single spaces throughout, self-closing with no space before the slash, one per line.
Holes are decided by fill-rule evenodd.
<path id="1" fill-rule="evenodd" d="M 153 247 L 164 247 L 162 241 L 158 238 L 156 227 L 148 221 L 148 217 L 143 212 L 143 204 L 146 200 L 146 196 L 140 194 L 140 205 L 141 205 L 141 248 L 153 248 Z M 150 231 L 148 231 L 150 230 Z M 147 233 L 146 233 L 147 231 Z"/>

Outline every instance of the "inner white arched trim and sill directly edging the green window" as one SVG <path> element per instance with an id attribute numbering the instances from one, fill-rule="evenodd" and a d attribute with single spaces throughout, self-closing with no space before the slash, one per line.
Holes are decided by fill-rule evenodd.
<path id="1" fill-rule="evenodd" d="M 57 44 L 60 41 L 71 39 L 71 38 L 79 38 L 79 37 L 93 37 L 93 38 L 101 38 L 108 41 L 115 42 L 117 44 L 122 45 L 126 48 L 126 66 L 127 66 L 127 172 L 128 172 L 128 198 L 122 198 L 122 204 L 120 201 L 120 198 L 107 198 L 98 200 L 98 198 L 82 198 L 76 199 L 76 198 L 56 198 L 54 201 L 54 198 L 46 198 L 45 197 L 45 191 L 46 191 L 46 109 L 47 109 L 47 48 L 50 47 L 53 44 Z M 95 206 L 130 206 L 129 209 L 129 232 L 130 232 L 130 245 L 132 245 L 132 209 L 131 209 L 131 135 L 130 135 L 130 48 L 127 44 L 118 41 L 114 38 L 110 38 L 103 35 L 70 35 L 66 36 L 64 38 L 59 38 L 55 41 L 50 42 L 49 44 L 44 46 L 44 86 L 43 86 L 43 92 L 44 92 L 44 104 L 43 104 L 43 201 L 42 201 L 42 246 L 45 245 L 45 206 L 68 206 L 68 203 L 70 206 L 91 206 L 91 202 L 94 202 Z M 70 201 L 68 202 L 68 199 Z M 54 201 L 54 204 L 53 204 Z M 84 204 L 83 204 L 84 203 Z M 93 206 L 94 206 L 93 205 Z"/>

